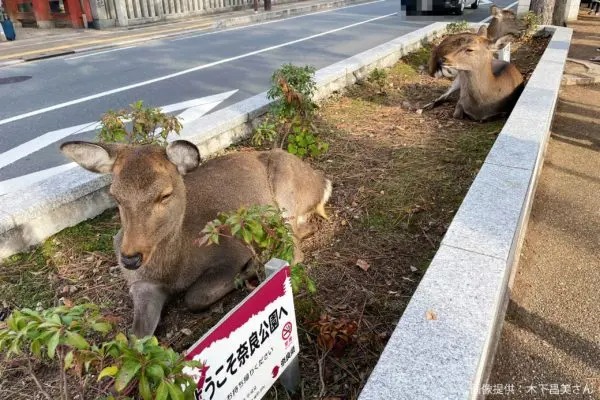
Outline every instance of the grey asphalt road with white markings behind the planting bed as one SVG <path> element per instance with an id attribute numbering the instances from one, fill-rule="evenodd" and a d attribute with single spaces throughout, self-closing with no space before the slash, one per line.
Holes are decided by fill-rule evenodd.
<path id="1" fill-rule="evenodd" d="M 504 7 L 512 2 L 496 3 Z M 186 107 L 178 103 L 214 96 L 205 106 L 207 112 L 214 111 L 265 91 L 272 72 L 283 63 L 323 68 L 426 26 L 433 18 L 479 22 L 489 15 L 485 4 L 467 9 L 462 17 L 407 20 L 396 14 L 398 8 L 398 0 L 379 0 L 2 68 L 0 195 L 16 182 L 10 179 L 64 165 L 58 144 L 66 134 L 68 140 L 95 136 L 93 131 L 74 134 L 81 126 L 64 129 L 89 125 L 108 109 L 141 99 L 152 106 L 175 104 L 172 111 L 177 112 Z M 6 78 L 15 82 L 1 84 Z"/>

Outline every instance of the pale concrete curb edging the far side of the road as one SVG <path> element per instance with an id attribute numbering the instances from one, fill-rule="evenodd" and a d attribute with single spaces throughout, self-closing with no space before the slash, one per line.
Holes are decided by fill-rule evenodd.
<path id="1" fill-rule="evenodd" d="M 131 40 L 128 40 L 127 38 L 123 38 L 123 40 L 116 39 L 115 43 L 110 43 L 110 44 L 106 44 L 106 45 L 82 47 L 79 49 L 58 51 L 55 53 L 42 54 L 39 56 L 36 55 L 36 56 L 23 58 L 23 59 L 2 61 L 2 62 L 0 62 L 0 68 L 15 65 L 15 64 L 20 64 L 20 63 L 24 63 L 24 62 L 44 60 L 44 59 L 48 59 L 48 58 L 60 57 L 60 56 L 75 54 L 75 53 L 84 53 L 84 52 L 88 52 L 88 51 L 104 50 L 104 49 L 109 49 L 112 47 L 129 45 L 129 44 L 139 43 L 139 42 L 147 42 L 149 40 L 164 39 L 164 38 L 169 38 L 169 37 L 173 37 L 173 36 L 179 36 L 182 34 L 189 34 L 189 33 L 194 33 L 194 32 L 199 32 L 199 31 L 205 31 L 205 30 L 225 29 L 225 28 L 231 28 L 231 27 L 240 26 L 240 25 L 251 24 L 254 22 L 272 21 L 272 20 L 277 20 L 277 19 L 286 18 L 286 17 L 292 17 L 292 16 L 296 16 L 296 15 L 309 14 L 309 13 L 321 11 L 321 10 L 335 9 L 335 8 L 340 8 L 340 7 L 344 7 L 344 6 L 355 5 L 355 4 L 358 5 L 358 4 L 370 3 L 370 2 L 372 2 L 372 0 L 334 0 L 334 1 L 326 2 L 326 3 L 298 5 L 298 6 L 291 7 L 291 8 L 288 7 L 288 8 L 282 8 L 280 10 L 273 10 L 273 11 L 252 14 L 252 15 L 244 15 L 244 16 L 229 17 L 229 18 L 218 18 L 218 13 L 210 14 L 210 15 L 208 15 L 208 18 L 212 19 L 213 21 L 212 21 L 212 23 L 207 21 L 207 26 L 205 28 L 195 29 L 193 31 L 186 31 L 185 28 L 182 28 L 181 31 L 178 31 L 178 32 L 172 32 L 172 33 L 167 33 L 167 34 L 157 34 L 154 36 L 149 36 L 149 37 L 144 37 L 144 38 L 139 38 L 139 39 L 131 39 Z M 289 6 L 289 4 L 290 3 L 284 3 L 284 4 L 281 4 L 280 7 L 286 7 L 286 6 Z M 274 7 L 277 7 L 277 5 L 275 5 Z M 165 25 L 168 25 L 168 24 L 165 24 Z M 143 26 L 138 27 L 138 29 L 143 29 Z"/>

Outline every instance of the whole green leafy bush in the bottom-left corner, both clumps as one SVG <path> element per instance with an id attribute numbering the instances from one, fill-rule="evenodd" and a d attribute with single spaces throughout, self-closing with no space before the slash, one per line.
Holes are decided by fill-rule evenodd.
<path id="1" fill-rule="evenodd" d="M 185 361 L 172 349 L 162 347 L 155 337 L 137 339 L 122 333 L 109 342 L 96 343 L 113 331 L 113 326 L 100 315 L 94 304 L 60 306 L 46 310 L 15 310 L 0 329 L 0 351 L 6 358 L 24 357 L 25 371 L 40 392 L 51 396 L 41 386 L 31 360 L 58 359 L 62 396 L 69 398 L 66 371 L 73 370 L 81 393 L 88 379 L 85 374 L 98 374 L 98 381 L 111 377 L 117 393 L 137 393 L 144 400 L 183 399 L 193 393 L 196 384 L 183 374 L 183 368 L 199 367 L 197 361 Z M 104 367 L 104 365 L 109 366 Z M 185 389 L 182 389 L 184 387 Z"/>

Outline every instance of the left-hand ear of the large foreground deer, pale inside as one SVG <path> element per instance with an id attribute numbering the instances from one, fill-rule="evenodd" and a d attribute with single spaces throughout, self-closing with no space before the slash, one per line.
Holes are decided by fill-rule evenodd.
<path id="1" fill-rule="evenodd" d="M 120 146 L 73 141 L 61 144 L 60 151 L 88 171 L 108 174 L 112 171 Z"/>

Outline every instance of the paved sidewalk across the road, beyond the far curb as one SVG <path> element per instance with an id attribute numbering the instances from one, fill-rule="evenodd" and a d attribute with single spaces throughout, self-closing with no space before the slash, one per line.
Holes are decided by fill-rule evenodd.
<path id="1" fill-rule="evenodd" d="M 177 21 L 111 29 L 16 28 L 17 40 L 0 42 L 0 67 L 64 54 L 162 39 L 169 36 L 208 31 L 333 9 L 369 0 L 302 0 L 274 4 L 271 11 L 252 9 L 203 15 Z"/>

